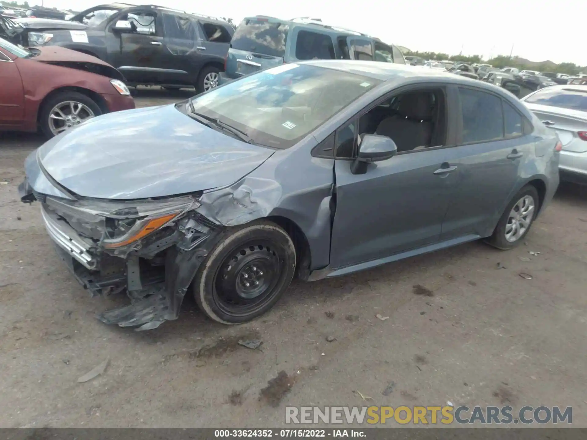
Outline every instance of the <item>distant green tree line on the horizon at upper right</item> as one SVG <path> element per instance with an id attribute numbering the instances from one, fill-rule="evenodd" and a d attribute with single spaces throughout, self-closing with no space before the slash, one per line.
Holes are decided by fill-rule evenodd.
<path id="1" fill-rule="evenodd" d="M 414 52 L 407 50 L 404 55 L 419 56 L 425 60 L 450 60 L 450 61 L 462 61 L 464 63 L 487 63 L 494 67 L 502 69 L 503 67 L 517 67 L 519 70 L 538 70 L 538 72 L 554 72 L 554 73 L 566 73 L 568 75 L 577 75 L 583 70 L 587 70 L 587 66 L 581 67 L 575 63 L 560 63 L 556 64 L 552 61 L 544 61 L 541 63 L 531 62 L 527 59 L 518 56 L 505 56 L 498 55 L 489 60 L 483 60 L 480 55 L 448 55 L 448 53 L 442 52 Z"/>

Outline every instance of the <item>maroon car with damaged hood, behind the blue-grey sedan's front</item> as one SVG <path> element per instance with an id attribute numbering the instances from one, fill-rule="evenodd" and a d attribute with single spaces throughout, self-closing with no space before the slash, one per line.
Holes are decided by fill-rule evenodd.
<path id="1" fill-rule="evenodd" d="M 96 57 L 60 48 L 22 48 L 0 38 L 0 131 L 48 137 L 103 113 L 134 109 L 122 73 Z"/>

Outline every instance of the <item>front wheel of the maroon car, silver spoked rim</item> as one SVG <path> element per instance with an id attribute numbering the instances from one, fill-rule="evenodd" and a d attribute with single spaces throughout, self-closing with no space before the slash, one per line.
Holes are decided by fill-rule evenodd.
<path id="1" fill-rule="evenodd" d="M 102 114 L 89 96 L 79 92 L 62 92 L 43 103 L 39 122 L 45 136 L 57 136 Z"/>

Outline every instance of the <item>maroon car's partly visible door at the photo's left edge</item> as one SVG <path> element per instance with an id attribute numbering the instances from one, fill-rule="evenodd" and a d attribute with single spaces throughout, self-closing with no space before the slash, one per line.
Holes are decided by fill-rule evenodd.
<path id="1" fill-rule="evenodd" d="M 0 126 L 19 125 L 24 115 L 21 73 L 12 60 L 14 56 L 9 55 L 0 49 L 0 84 L 10 84 L 10 87 L 0 86 Z"/>

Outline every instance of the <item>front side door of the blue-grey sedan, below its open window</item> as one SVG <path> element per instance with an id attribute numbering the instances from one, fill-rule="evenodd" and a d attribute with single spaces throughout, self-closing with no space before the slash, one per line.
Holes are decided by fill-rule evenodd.
<path id="1" fill-rule="evenodd" d="M 399 151 L 392 158 L 367 165 L 365 174 L 353 174 L 350 165 L 357 154 L 358 127 L 377 111 L 373 106 L 336 133 L 333 269 L 359 263 L 369 267 L 370 261 L 437 243 L 457 182 L 458 152 L 444 144 Z M 454 169 L 439 171 L 449 167 Z"/>

